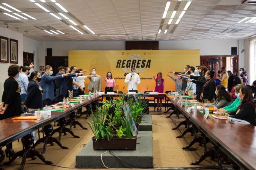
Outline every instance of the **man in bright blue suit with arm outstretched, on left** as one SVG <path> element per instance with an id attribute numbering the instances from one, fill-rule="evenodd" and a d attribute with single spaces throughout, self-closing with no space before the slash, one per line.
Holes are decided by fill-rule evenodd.
<path id="1" fill-rule="evenodd" d="M 54 84 L 53 81 L 64 79 L 67 74 L 61 74 L 59 76 L 52 76 L 52 66 L 45 66 L 44 73 L 42 75 L 42 80 L 40 81 L 41 87 L 43 89 L 43 103 L 44 106 L 51 105 L 54 100 Z"/>

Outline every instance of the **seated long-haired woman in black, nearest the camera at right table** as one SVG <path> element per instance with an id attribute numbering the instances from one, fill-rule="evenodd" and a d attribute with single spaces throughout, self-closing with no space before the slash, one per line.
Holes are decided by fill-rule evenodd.
<path id="1" fill-rule="evenodd" d="M 242 119 L 248 121 L 251 125 L 256 126 L 256 114 L 255 107 L 256 104 L 252 98 L 252 89 L 250 87 L 244 86 L 240 89 L 237 98 L 241 100 L 240 105 L 236 111 L 231 113 L 216 113 L 216 115 L 221 117 L 234 117 L 236 119 Z"/>

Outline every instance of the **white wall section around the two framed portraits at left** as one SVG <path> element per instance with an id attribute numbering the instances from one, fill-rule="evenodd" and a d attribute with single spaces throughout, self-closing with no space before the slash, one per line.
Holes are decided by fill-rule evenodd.
<path id="1" fill-rule="evenodd" d="M 0 35 L 4 37 L 9 38 L 8 46 L 10 45 L 10 38 L 18 40 L 18 65 L 23 65 L 23 35 L 21 33 L 18 33 L 16 31 L 12 31 L 3 27 L 0 27 Z M 9 49 L 10 53 L 10 49 Z M 11 55 L 11 54 L 9 54 Z M 8 78 L 8 67 L 12 65 L 10 63 L 10 57 L 9 57 L 9 63 L 0 63 L 0 97 L 2 98 L 2 93 L 4 91 L 4 81 Z"/>

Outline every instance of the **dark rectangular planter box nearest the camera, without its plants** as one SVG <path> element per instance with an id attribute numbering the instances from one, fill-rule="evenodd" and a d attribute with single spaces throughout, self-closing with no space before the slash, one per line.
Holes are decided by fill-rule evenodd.
<path id="1" fill-rule="evenodd" d="M 92 137 L 93 150 L 136 150 L 137 137 L 133 138 L 113 138 L 95 139 Z"/>

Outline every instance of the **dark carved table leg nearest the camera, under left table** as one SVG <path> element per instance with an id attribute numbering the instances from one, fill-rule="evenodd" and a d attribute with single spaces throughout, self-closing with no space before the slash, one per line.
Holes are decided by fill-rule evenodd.
<path id="1" fill-rule="evenodd" d="M 44 158 L 44 156 L 40 152 L 32 149 L 32 146 L 33 146 L 32 144 L 34 142 L 34 136 L 32 135 L 32 133 L 22 137 L 21 142 L 24 146 L 24 149 L 15 153 L 12 159 L 8 162 L 5 162 L 4 165 L 11 164 L 14 160 L 16 160 L 16 158 L 18 158 L 18 156 L 22 156 L 22 162 L 19 170 L 24 169 L 27 158 L 31 158 L 32 160 L 35 160 L 36 159 L 35 156 L 40 158 L 40 160 L 42 160 L 45 164 L 53 164 L 53 162 L 46 160 L 46 158 Z"/>

